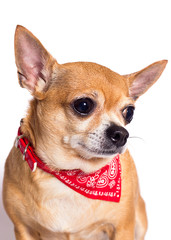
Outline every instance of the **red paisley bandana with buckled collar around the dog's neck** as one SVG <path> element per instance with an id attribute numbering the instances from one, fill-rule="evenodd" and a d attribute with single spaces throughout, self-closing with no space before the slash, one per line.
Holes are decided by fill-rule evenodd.
<path id="1" fill-rule="evenodd" d="M 23 154 L 23 160 L 26 160 L 31 170 L 34 172 L 36 167 L 55 176 L 58 180 L 91 199 L 119 202 L 121 197 L 121 165 L 119 154 L 106 166 L 98 171 L 86 174 L 83 171 L 76 170 L 51 170 L 44 162 L 37 157 L 33 147 L 30 145 L 18 130 L 16 147 Z"/>

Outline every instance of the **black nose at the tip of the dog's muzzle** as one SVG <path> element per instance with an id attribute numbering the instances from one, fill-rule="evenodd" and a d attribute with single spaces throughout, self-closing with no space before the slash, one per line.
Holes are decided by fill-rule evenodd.
<path id="1" fill-rule="evenodd" d="M 129 133 L 125 128 L 114 124 L 106 130 L 106 135 L 116 147 L 124 146 L 129 137 Z"/>

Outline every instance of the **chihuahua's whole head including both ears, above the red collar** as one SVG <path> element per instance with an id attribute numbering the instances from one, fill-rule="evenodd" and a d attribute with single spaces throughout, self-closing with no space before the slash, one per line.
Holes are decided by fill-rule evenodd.
<path id="1" fill-rule="evenodd" d="M 59 65 L 20 26 L 15 55 L 20 85 L 34 96 L 25 121 L 34 129 L 36 152 L 55 168 L 86 172 L 124 152 L 129 137 L 125 125 L 133 118 L 135 101 L 167 63 L 126 76 L 95 63 Z"/>

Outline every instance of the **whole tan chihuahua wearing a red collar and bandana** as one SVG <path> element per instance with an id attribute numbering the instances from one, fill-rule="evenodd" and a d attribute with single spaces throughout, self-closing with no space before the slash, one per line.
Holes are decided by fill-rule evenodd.
<path id="1" fill-rule="evenodd" d="M 61 65 L 22 26 L 15 58 L 33 96 L 5 166 L 16 239 L 143 240 L 145 204 L 125 126 L 167 60 L 124 76 L 90 62 Z"/>

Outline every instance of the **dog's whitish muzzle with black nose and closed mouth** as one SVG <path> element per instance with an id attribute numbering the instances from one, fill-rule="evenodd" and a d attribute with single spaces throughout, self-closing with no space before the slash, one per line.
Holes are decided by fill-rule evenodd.
<path id="1" fill-rule="evenodd" d="M 73 135 L 70 146 L 85 159 L 109 158 L 126 150 L 129 133 L 114 124 L 103 131 L 96 130 L 87 135 Z"/>

